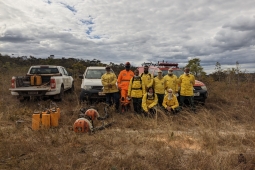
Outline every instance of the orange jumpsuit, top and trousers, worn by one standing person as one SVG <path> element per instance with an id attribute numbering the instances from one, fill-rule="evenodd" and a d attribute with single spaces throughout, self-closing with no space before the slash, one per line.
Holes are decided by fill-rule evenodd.
<path id="1" fill-rule="evenodd" d="M 129 100 L 127 100 L 128 96 L 128 86 L 130 79 L 134 77 L 134 72 L 129 70 L 122 70 L 118 76 L 118 87 L 120 89 L 120 95 L 121 95 L 121 105 L 126 106 L 130 103 Z"/>

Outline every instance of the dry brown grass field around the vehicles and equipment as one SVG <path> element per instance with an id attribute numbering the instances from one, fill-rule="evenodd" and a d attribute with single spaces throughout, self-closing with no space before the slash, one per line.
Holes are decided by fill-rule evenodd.
<path id="1" fill-rule="evenodd" d="M 0 74 L 0 169 L 255 169 L 255 84 L 207 82 L 209 98 L 197 114 L 147 118 L 110 112 L 111 127 L 94 134 L 70 130 L 78 118 L 80 80 L 75 94 L 66 94 L 58 128 L 33 131 L 38 103 L 19 102 L 9 92 L 11 76 Z M 99 113 L 103 104 L 98 104 Z M 22 121 L 17 124 L 17 121 Z M 99 126 L 101 122 L 96 122 Z"/>

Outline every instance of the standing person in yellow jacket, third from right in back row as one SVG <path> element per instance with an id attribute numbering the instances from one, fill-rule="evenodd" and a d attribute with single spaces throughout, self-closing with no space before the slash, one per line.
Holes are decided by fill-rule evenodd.
<path id="1" fill-rule="evenodd" d="M 162 76 L 162 70 L 158 69 L 158 75 L 154 78 L 153 87 L 155 89 L 155 93 L 158 96 L 158 104 L 162 106 L 163 99 L 165 96 L 165 79 Z"/>

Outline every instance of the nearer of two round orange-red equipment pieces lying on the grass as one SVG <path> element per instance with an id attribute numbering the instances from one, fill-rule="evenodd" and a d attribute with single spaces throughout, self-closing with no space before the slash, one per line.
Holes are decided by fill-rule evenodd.
<path id="1" fill-rule="evenodd" d="M 88 133 L 93 131 L 93 127 L 88 119 L 79 118 L 74 122 L 73 130 L 76 133 Z"/>

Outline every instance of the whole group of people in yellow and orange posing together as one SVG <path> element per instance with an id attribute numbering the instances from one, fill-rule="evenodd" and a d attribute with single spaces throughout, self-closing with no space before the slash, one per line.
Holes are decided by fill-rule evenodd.
<path id="1" fill-rule="evenodd" d="M 139 70 L 133 72 L 130 67 L 130 62 L 126 62 L 125 69 L 117 78 L 111 67 L 106 66 L 106 73 L 101 77 L 106 103 L 109 106 L 114 104 L 117 112 L 130 111 L 132 101 L 134 112 L 137 114 L 155 114 L 156 106 L 163 108 L 166 113 L 177 114 L 184 106 L 185 100 L 189 102 L 191 110 L 196 112 L 193 99 L 195 77 L 190 74 L 189 68 L 185 68 L 184 74 L 178 79 L 172 68 L 169 68 L 165 76 L 162 75 L 162 70 L 158 69 L 158 75 L 154 77 L 146 65 L 141 74 Z"/>

